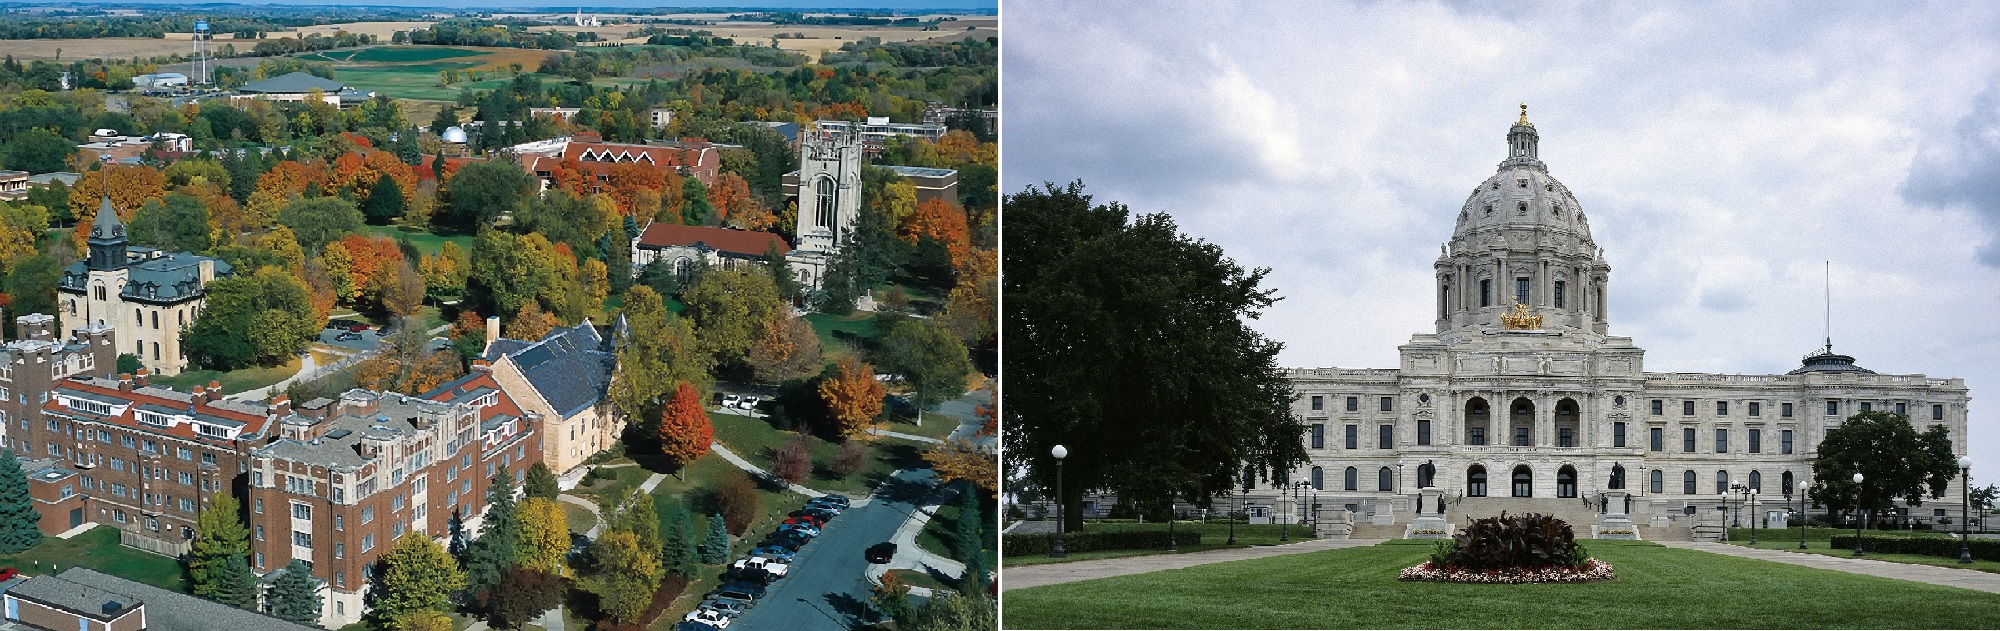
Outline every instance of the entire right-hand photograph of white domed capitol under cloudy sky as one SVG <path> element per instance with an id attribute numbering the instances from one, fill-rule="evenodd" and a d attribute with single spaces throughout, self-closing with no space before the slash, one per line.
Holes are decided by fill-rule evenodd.
<path id="1" fill-rule="evenodd" d="M 2000 10 L 1008 2 L 1006 629 L 1992 629 Z"/>

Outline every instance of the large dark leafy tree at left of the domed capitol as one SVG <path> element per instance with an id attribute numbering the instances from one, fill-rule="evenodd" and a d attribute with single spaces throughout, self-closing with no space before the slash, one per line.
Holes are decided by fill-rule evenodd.
<path id="1" fill-rule="evenodd" d="M 1068 447 L 1070 527 L 1086 489 L 1212 497 L 1246 467 L 1272 479 L 1306 461 L 1282 343 L 1248 325 L 1276 302 L 1268 270 L 1164 214 L 1090 206 L 1082 184 L 1024 190 L 1004 214 L 1004 453 L 1054 489 L 1050 447 Z"/>

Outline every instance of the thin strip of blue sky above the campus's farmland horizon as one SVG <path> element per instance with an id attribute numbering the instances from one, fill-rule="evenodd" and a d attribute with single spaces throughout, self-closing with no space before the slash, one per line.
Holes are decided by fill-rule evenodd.
<path id="1" fill-rule="evenodd" d="M 358 2 L 324 2 L 324 0 L 274 0 L 274 2 L 168 2 L 168 0 L 118 0 L 118 2 L 10 2 L 8 8 L 30 8 L 30 6 L 146 6 L 154 8 L 160 4 L 176 4 L 186 10 L 210 8 L 210 6 L 354 6 L 354 8 L 408 8 L 408 10 L 534 10 L 534 12 L 564 12 L 564 10 L 630 10 L 630 8 L 676 8 L 688 12 L 740 12 L 740 10 L 814 10 L 814 12 L 856 12 L 856 10 L 894 10 L 894 12 L 976 12 L 976 14 L 998 14 L 998 0 L 862 0 L 872 4 L 858 6 L 856 0 L 836 0 L 836 2 L 814 2 L 814 0 L 772 0 L 770 4 L 750 4 L 750 6 L 716 6 L 710 2 L 676 2 L 676 0 L 628 0 L 628 2 L 598 2 L 598 4 L 548 4 L 540 0 L 438 0 L 434 4 L 412 6 L 410 0 L 358 0 Z"/>

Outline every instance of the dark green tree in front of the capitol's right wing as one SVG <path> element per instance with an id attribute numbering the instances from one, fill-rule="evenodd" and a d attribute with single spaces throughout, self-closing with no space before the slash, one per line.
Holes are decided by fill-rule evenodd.
<path id="1" fill-rule="evenodd" d="M 1812 461 L 1812 499 L 1836 511 L 1852 511 L 1854 471 L 1860 467 L 1860 507 L 1870 511 L 1870 519 L 1892 509 L 1898 499 L 1914 507 L 1926 497 L 1944 497 L 1944 487 L 1958 477 L 1950 429 L 1930 425 L 1916 431 L 1910 417 L 1880 409 L 1850 415 L 1840 427 L 1828 429 L 1818 451 L 1820 459 Z"/>

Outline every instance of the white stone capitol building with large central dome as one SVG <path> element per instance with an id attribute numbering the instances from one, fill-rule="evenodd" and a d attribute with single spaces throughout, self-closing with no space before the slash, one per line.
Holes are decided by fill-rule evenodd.
<path id="1" fill-rule="evenodd" d="M 1858 411 L 1944 423 L 1964 449 L 1964 379 L 1876 373 L 1830 341 L 1782 375 L 1648 371 L 1646 351 L 1610 333 L 1612 266 L 1538 158 L 1526 106 L 1506 140 L 1432 264 L 1436 331 L 1398 347 L 1398 367 L 1286 371 L 1310 455 L 1290 491 L 1318 505 L 1314 521 L 1346 509 L 1354 537 L 1400 537 L 1418 489 L 1436 487 L 1452 523 L 1544 511 L 1588 537 L 1592 499 L 1626 491 L 1640 537 L 1678 539 L 1732 481 L 1760 489 L 1744 519 L 1782 521 L 1820 439 Z M 1306 515 L 1284 501 L 1258 485 L 1244 507 Z M 1958 501 L 1908 511 L 1932 521 L 1946 503 L 1956 515 Z"/>

